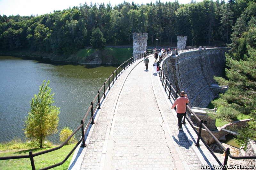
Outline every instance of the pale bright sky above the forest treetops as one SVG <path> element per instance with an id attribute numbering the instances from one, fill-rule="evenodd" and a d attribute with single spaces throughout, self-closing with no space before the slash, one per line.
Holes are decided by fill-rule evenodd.
<path id="1" fill-rule="evenodd" d="M 126 2 L 135 4 L 147 4 L 151 0 L 125 0 Z M 161 2 L 174 2 L 174 0 L 160 0 Z M 188 4 L 191 0 L 178 0 L 180 4 Z M 201 2 L 203 0 L 196 0 L 196 2 Z M 53 12 L 54 10 L 68 9 L 69 7 L 79 6 L 80 4 L 87 3 L 88 5 L 92 2 L 94 3 L 104 3 L 115 6 L 116 4 L 121 4 L 123 0 L 0 0 L 0 15 L 17 15 L 20 16 L 30 16 L 30 15 L 42 15 L 46 13 Z M 152 0 L 153 3 L 156 0 Z"/>

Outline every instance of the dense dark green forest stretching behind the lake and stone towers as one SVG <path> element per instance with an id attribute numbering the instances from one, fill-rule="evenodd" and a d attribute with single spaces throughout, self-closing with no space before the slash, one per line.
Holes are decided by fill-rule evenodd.
<path id="1" fill-rule="evenodd" d="M 249 0 L 179 4 L 84 4 L 40 16 L 0 15 L 2 49 L 30 48 L 36 51 L 70 54 L 90 46 L 92 31 L 99 28 L 107 44 L 132 44 L 133 32 L 147 32 L 148 44 L 175 46 L 177 35 L 187 35 L 188 45 L 230 43 L 232 26 L 247 8 Z M 220 43 L 219 43 L 220 44 Z"/>

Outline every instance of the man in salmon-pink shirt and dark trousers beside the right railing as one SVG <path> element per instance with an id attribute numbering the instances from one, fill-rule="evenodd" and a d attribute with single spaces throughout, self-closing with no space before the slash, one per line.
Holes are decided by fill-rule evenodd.
<path id="1" fill-rule="evenodd" d="M 189 102 L 188 98 L 187 98 L 187 94 L 185 92 L 180 92 L 180 97 L 178 97 L 173 105 L 172 105 L 172 109 L 177 106 L 177 117 L 178 117 L 178 126 L 179 126 L 179 130 L 182 130 L 182 125 L 181 125 L 181 120 L 182 117 L 186 115 L 186 104 Z"/>

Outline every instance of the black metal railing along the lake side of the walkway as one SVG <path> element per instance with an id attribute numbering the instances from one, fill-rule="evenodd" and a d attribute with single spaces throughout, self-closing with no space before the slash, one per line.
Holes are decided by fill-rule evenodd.
<path id="1" fill-rule="evenodd" d="M 154 50 L 148 50 L 146 52 L 146 55 L 152 55 L 154 54 Z M 30 158 L 30 162 L 31 162 L 31 168 L 32 170 L 35 170 L 35 163 L 34 163 L 34 157 L 48 153 L 48 152 L 52 152 L 52 151 L 56 151 L 60 148 L 62 148 L 65 144 L 68 143 L 68 140 L 71 139 L 71 137 L 73 137 L 77 131 L 79 131 L 81 129 L 81 139 L 76 143 L 76 145 L 72 148 L 72 150 L 68 153 L 68 155 L 65 157 L 65 159 L 63 159 L 61 162 L 51 165 L 51 166 L 47 166 L 42 168 L 41 170 L 44 169 L 51 169 L 53 167 L 56 166 L 60 166 L 63 163 L 66 162 L 66 160 L 70 157 L 70 155 L 75 151 L 76 147 L 82 142 L 81 147 L 85 147 L 85 132 L 89 129 L 90 124 L 94 124 L 94 114 L 96 113 L 96 111 L 98 109 L 100 109 L 100 101 L 101 99 L 105 99 L 106 98 L 106 89 L 110 90 L 112 85 L 114 85 L 114 82 L 117 80 L 117 75 L 120 76 L 120 74 L 123 73 L 123 71 L 129 67 L 132 63 L 136 62 L 137 60 L 140 60 L 141 58 L 144 58 L 144 54 L 138 54 L 135 55 L 131 58 L 129 58 L 128 60 L 126 60 L 124 63 L 122 63 L 119 67 L 117 67 L 115 69 L 114 72 L 112 72 L 112 74 L 108 77 L 108 79 L 103 83 L 103 85 L 101 86 L 100 90 L 98 90 L 96 96 L 94 97 L 94 99 L 92 100 L 90 106 L 88 107 L 88 110 L 86 112 L 86 114 L 84 115 L 84 118 L 81 120 L 80 125 L 76 128 L 76 130 L 59 146 L 46 150 L 46 151 L 42 151 L 42 152 L 37 152 L 37 153 L 32 153 L 32 151 L 29 151 L 28 155 L 21 155 L 21 156 L 8 156 L 8 157 L 0 157 L 0 160 L 8 160 L 8 159 L 23 159 L 23 158 Z M 112 85 L 111 85 L 112 84 Z M 86 124 L 86 127 L 84 129 L 84 122 L 85 119 L 91 114 L 91 117 L 89 119 L 89 121 Z"/>

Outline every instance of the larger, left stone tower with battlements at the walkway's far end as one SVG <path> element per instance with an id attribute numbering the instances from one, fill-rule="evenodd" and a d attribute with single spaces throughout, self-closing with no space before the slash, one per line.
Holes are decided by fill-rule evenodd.
<path id="1" fill-rule="evenodd" d="M 148 33 L 132 33 L 133 51 L 132 56 L 144 53 L 148 49 Z"/>

